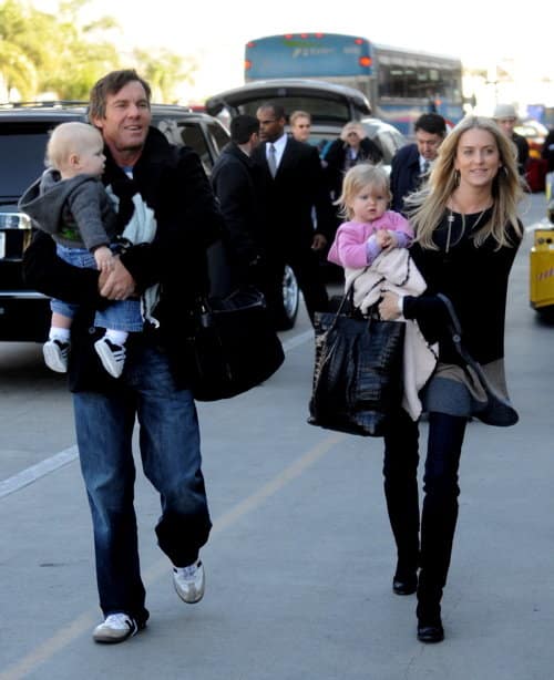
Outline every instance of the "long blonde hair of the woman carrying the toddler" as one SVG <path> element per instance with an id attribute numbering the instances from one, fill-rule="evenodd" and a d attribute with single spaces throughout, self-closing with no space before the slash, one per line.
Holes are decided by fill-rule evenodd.
<path id="1" fill-rule="evenodd" d="M 447 204 L 458 186 L 458 173 L 454 167 L 460 137 L 469 130 L 484 130 L 492 134 L 500 153 L 501 167 L 493 179 L 492 197 L 494 199 L 491 218 L 474 234 L 475 244 L 481 245 L 492 237 L 499 248 L 510 245 L 506 234 L 512 225 L 516 234 L 522 229 L 517 218 L 517 204 L 523 198 L 522 181 L 517 173 L 517 150 L 492 119 L 466 116 L 447 135 L 439 148 L 439 155 L 429 176 L 427 185 L 419 192 L 410 194 L 406 209 L 416 230 L 416 240 L 423 248 L 437 250 L 433 231 L 441 223 Z"/>

